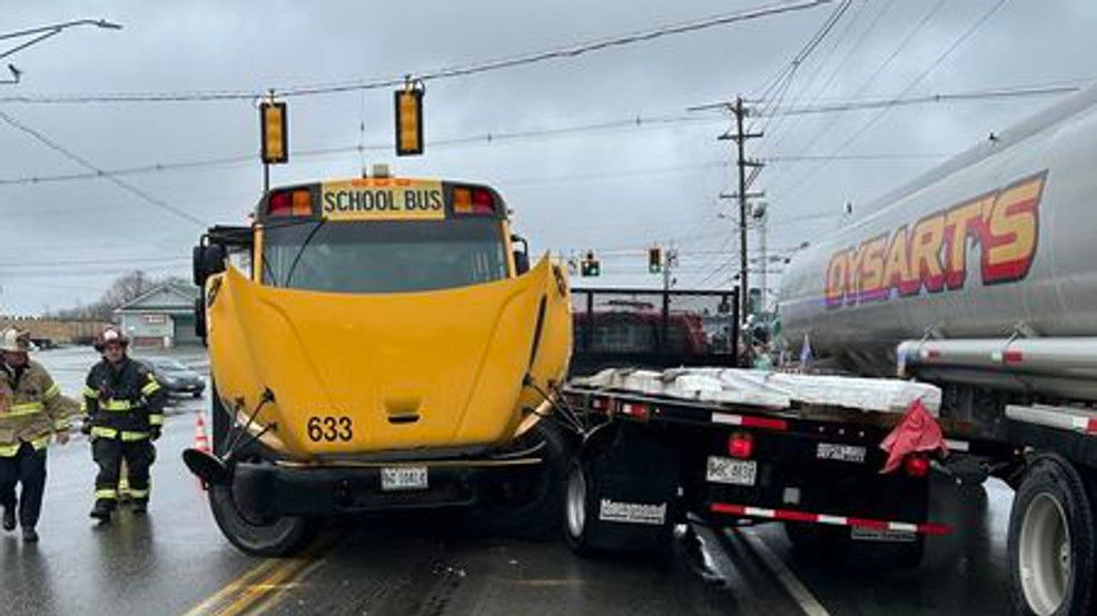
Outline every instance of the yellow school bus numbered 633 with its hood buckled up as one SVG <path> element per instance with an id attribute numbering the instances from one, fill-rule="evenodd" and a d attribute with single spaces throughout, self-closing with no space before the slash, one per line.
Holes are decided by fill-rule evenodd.
<path id="1" fill-rule="evenodd" d="M 391 177 L 267 191 L 195 248 L 226 537 L 284 555 L 333 514 L 470 506 L 554 530 L 566 274 L 530 267 L 482 185 Z M 544 527 L 544 528 L 541 528 Z"/>

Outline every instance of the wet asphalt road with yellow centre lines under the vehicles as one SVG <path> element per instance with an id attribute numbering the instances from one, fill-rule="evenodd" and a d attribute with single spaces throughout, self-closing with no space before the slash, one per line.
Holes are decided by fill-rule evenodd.
<path id="1" fill-rule="evenodd" d="M 182 359 L 201 361 L 191 356 Z M 90 349 L 37 357 L 66 394 L 79 391 L 96 359 Z M 247 557 L 220 536 L 179 459 L 205 406 L 187 400 L 169 415 L 146 518 L 123 511 L 97 527 L 87 517 L 95 475 L 87 441 L 51 448 L 41 543 L 0 536 L 0 614 L 1010 613 L 1012 494 L 996 481 L 935 486 L 933 518 L 957 531 L 931 538 L 925 564 L 911 572 L 804 559 L 777 525 L 696 528 L 700 557 L 680 543 L 663 558 L 581 559 L 562 542 L 485 536 L 475 519 L 455 514 L 343 520 L 304 557 Z"/>

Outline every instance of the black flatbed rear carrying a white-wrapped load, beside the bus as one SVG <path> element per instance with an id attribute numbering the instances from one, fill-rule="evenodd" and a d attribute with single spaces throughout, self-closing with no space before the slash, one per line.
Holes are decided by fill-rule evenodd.
<path id="1" fill-rule="evenodd" d="M 579 552 L 660 547 L 688 517 L 714 526 L 783 521 L 798 546 L 912 566 L 926 535 L 929 470 L 908 455 L 883 474 L 880 443 L 937 387 L 896 379 L 728 368 L 605 370 L 564 398 L 586 436 L 569 474 L 567 536 Z M 966 456 L 1019 455 L 948 435 Z"/>

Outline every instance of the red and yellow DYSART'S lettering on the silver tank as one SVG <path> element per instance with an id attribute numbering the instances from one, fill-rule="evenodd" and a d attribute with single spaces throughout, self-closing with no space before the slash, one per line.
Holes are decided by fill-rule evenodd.
<path id="1" fill-rule="evenodd" d="M 827 266 L 827 306 L 961 289 L 969 240 L 981 256 L 984 285 L 1025 278 L 1046 178 L 1041 171 L 836 252 Z"/>

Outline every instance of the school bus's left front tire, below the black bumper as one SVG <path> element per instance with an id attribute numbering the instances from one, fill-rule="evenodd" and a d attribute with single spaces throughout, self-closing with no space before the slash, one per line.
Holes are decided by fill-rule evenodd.
<path id="1" fill-rule="evenodd" d="M 209 507 L 225 537 L 253 556 L 288 556 L 312 537 L 312 525 L 303 517 L 264 517 L 248 510 L 233 496 L 233 486 L 210 486 Z"/>

